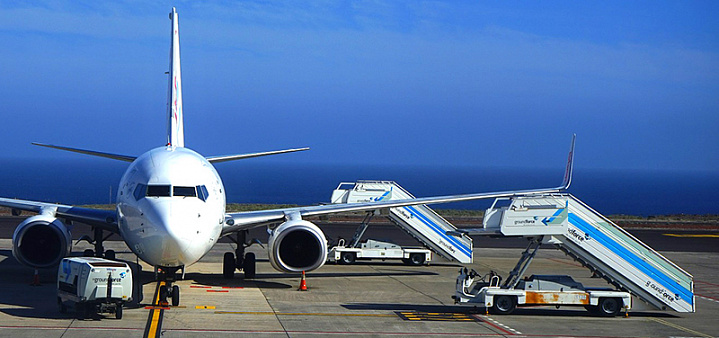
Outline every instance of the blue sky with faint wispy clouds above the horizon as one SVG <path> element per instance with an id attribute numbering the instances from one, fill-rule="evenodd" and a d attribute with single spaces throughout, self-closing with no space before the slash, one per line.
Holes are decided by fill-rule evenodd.
<path id="1" fill-rule="evenodd" d="M 715 1 L 3 1 L 0 157 L 162 145 L 172 6 L 205 155 L 719 168 Z"/>

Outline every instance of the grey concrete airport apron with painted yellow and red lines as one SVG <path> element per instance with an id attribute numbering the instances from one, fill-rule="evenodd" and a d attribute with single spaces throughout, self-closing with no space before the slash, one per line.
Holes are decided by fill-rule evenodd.
<path id="1" fill-rule="evenodd" d="M 79 254 L 89 244 L 73 248 Z M 662 252 L 695 278 L 696 313 L 630 312 L 628 317 L 592 316 L 583 308 L 519 308 L 513 314 L 487 315 L 484 308 L 455 305 L 460 265 L 434 262 L 406 266 L 373 261 L 327 264 L 307 273 L 308 291 L 298 291 L 300 274 L 275 271 L 267 251 L 248 250 L 258 258 L 257 276 L 238 272 L 223 279 L 222 255 L 230 243 L 218 243 L 200 262 L 188 267 L 180 306 L 156 306 L 157 283 L 151 267 L 138 262 L 123 242 L 106 249 L 133 266 L 142 299 L 128 304 L 120 320 L 113 315 L 77 319 L 72 309 L 60 314 L 53 270 L 41 270 L 41 286 L 30 286 L 33 270 L 12 257 L 9 239 L 0 239 L 0 337 L 309 337 L 309 336 L 486 336 L 486 337 L 715 337 L 719 336 L 719 267 L 717 252 Z M 520 257 L 517 248 L 475 248 L 470 268 L 506 275 Z M 540 250 L 527 271 L 567 274 L 587 286 L 607 286 L 569 257 Z M 140 298 L 140 297 L 136 297 Z"/>

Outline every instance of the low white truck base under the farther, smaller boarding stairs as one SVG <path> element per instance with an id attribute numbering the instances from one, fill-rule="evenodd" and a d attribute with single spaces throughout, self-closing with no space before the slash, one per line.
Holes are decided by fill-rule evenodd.
<path id="1" fill-rule="evenodd" d="M 341 239 L 337 246 L 330 249 L 330 262 L 352 264 L 356 260 L 401 259 L 407 265 L 429 264 L 432 251 L 422 248 L 403 248 L 397 244 L 368 239 L 359 247 L 345 246 Z"/>

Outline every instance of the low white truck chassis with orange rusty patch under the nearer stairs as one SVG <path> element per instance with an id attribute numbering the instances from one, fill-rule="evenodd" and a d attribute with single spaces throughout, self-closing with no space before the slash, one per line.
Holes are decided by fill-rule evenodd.
<path id="1" fill-rule="evenodd" d="M 517 306 L 555 305 L 584 306 L 600 316 L 616 316 L 622 309 L 629 311 L 632 307 L 628 292 L 585 288 L 570 276 L 532 275 L 513 288 L 500 286 L 501 278 L 493 273 L 478 277 L 474 270 L 460 269 L 452 297 L 455 303 L 484 306 L 496 314 L 510 314 Z"/>

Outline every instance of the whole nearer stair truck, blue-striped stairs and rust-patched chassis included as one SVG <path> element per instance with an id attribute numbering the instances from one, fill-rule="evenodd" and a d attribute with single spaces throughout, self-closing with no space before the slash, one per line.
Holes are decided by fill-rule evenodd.
<path id="1" fill-rule="evenodd" d="M 621 309 L 695 311 L 692 275 L 571 194 L 496 199 L 482 228 L 448 232 L 455 233 L 530 241 L 504 283 L 493 272 L 480 277 L 460 270 L 456 303 L 483 304 L 500 314 L 518 305 L 583 305 L 605 316 Z M 522 278 L 541 244 L 553 245 L 613 288 L 585 288 L 569 276 Z"/>

